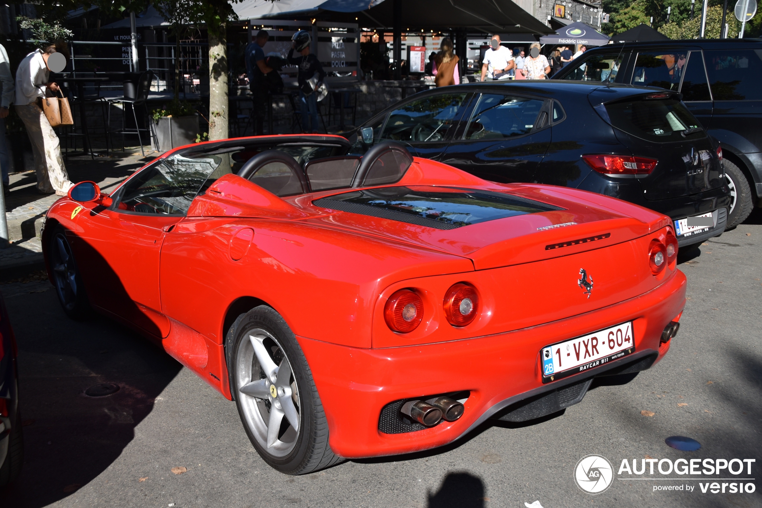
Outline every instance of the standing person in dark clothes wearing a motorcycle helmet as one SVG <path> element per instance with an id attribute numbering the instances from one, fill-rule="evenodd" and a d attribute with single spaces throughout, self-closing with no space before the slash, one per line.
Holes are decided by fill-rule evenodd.
<path id="1" fill-rule="evenodd" d="M 299 106 L 302 110 L 302 130 L 305 133 L 318 132 L 318 98 L 315 90 L 323 79 L 325 71 L 320 65 L 318 56 L 309 53 L 312 37 L 306 30 L 299 30 L 291 38 L 291 50 L 288 61 L 299 69 Z M 299 53 L 295 56 L 294 53 Z"/>

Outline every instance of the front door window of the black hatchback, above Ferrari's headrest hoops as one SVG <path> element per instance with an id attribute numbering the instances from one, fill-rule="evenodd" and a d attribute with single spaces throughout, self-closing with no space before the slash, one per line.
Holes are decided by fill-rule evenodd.
<path id="1" fill-rule="evenodd" d="M 403 104 L 389 113 L 381 139 L 440 142 L 447 138 L 468 94 L 436 94 Z M 374 136 L 375 137 L 375 136 Z"/>

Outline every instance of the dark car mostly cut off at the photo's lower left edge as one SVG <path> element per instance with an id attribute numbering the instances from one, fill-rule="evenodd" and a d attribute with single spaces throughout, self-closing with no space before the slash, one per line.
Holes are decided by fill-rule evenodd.
<path id="1" fill-rule="evenodd" d="M 16 340 L 0 297 L 0 490 L 18 476 L 22 456 Z"/>

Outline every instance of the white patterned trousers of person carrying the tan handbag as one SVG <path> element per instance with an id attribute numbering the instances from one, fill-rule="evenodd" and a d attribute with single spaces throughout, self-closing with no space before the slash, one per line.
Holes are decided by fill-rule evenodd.
<path id="1" fill-rule="evenodd" d="M 16 104 L 16 113 L 27 128 L 34 153 L 34 171 L 37 190 L 41 193 L 67 193 L 72 182 L 61 157 L 61 146 L 56 131 L 50 126 L 45 113 L 36 102 Z"/>

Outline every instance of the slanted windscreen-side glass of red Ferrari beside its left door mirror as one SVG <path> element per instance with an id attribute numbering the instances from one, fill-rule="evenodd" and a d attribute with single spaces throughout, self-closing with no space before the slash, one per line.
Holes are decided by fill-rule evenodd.
<path id="1" fill-rule="evenodd" d="M 194 158 L 168 157 L 130 178 L 120 191 L 120 211 L 185 215 L 197 193 L 218 170 L 223 158 L 203 155 Z M 229 167 L 226 168 L 230 172 Z"/>

